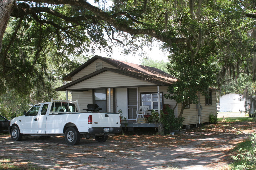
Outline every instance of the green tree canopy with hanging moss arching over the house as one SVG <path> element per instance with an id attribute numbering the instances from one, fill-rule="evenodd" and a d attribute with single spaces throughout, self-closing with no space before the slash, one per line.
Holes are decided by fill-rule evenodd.
<path id="1" fill-rule="evenodd" d="M 218 87 L 241 73 L 256 78 L 256 17 L 250 0 L 8 2 L 9 10 L 0 11 L 0 16 L 10 11 L 0 41 L 2 93 L 9 88 L 24 94 L 35 88 L 47 91 L 47 82 L 78 66 L 74 56 L 96 48 L 111 52 L 114 45 L 128 54 L 153 41 L 170 52 L 168 69 L 179 79 L 170 92 L 183 101 L 190 96 L 186 104 L 197 99 L 194 92 L 187 93 L 188 86 L 205 93 L 209 86 Z"/>

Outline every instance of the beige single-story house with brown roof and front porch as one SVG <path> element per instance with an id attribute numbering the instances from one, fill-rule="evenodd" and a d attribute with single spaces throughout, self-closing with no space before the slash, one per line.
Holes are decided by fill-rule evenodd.
<path id="1" fill-rule="evenodd" d="M 78 100 L 81 110 L 87 109 L 87 104 L 98 104 L 102 112 L 122 110 L 128 121 L 135 122 L 136 110 L 142 105 L 149 106 L 149 110 L 159 111 L 164 104 L 170 107 L 176 104 L 174 100 L 165 99 L 164 94 L 177 78 L 153 67 L 94 56 L 63 80 L 70 83 L 56 88 L 56 91 L 71 91 L 72 100 Z M 184 109 L 183 125 L 209 122 L 209 114 L 216 113 L 216 91 L 210 88 L 209 98 L 197 94 L 202 106 L 201 113 L 196 104 L 188 105 Z M 180 109 L 181 104 L 178 104 L 176 116 Z M 133 127 L 152 126 L 134 124 Z"/>

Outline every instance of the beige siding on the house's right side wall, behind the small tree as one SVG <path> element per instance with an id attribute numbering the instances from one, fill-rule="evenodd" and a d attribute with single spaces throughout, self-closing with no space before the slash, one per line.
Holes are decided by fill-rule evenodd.
<path id="1" fill-rule="evenodd" d="M 197 93 L 199 96 L 199 93 Z M 216 91 L 212 91 L 212 105 L 205 105 L 205 96 L 200 94 L 199 103 L 202 105 L 202 114 L 201 114 L 201 123 L 209 122 L 209 114 L 216 113 Z M 181 103 L 178 104 L 178 113 L 181 109 Z M 190 104 L 189 109 L 184 109 L 183 117 L 185 120 L 183 121 L 183 125 L 191 125 L 199 123 L 198 110 L 196 109 L 196 104 Z"/>

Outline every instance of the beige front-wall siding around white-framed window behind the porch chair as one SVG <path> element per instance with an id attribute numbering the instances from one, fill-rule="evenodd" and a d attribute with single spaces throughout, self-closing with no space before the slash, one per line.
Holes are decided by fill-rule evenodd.
<path id="1" fill-rule="evenodd" d="M 167 86 L 159 86 L 160 92 L 163 91 L 164 95 L 165 94 L 169 94 L 169 93 L 167 93 L 167 88 L 168 88 Z M 138 103 L 139 103 L 139 106 L 141 106 L 141 96 L 140 96 L 140 93 L 151 93 L 151 92 L 157 92 L 157 86 L 138 87 Z M 170 108 L 173 108 L 175 106 L 175 104 L 176 104 L 176 101 L 164 98 L 163 104 L 170 104 Z M 175 109 L 174 113 L 177 114 L 176 109 Z"/>

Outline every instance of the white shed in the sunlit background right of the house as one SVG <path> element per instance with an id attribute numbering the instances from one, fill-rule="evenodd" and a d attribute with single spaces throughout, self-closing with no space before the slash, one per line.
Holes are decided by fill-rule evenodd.
<path id="1" fill-rule="evenodd" d="M 244 111 L 244 102 L 242 95 L 229 93 L 220 97 L 220 112 L 239 112 Z"/>

